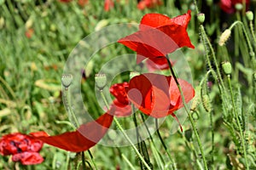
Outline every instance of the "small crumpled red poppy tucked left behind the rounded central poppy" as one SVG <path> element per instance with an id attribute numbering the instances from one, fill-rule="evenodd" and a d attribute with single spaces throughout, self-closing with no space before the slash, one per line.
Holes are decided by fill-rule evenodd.
<path id="1" fill-rule="evenodd" d="M 126 93 L 127 88 L 129 88 L 128 82 L 116 83 L 109 88 L 110 93 L 115 97 L 111 105 L 115 110 L 114 116 L 131 115 L 131 104 Z"/>

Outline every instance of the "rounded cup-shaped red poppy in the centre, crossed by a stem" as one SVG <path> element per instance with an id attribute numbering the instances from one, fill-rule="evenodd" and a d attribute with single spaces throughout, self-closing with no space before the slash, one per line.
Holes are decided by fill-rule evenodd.
<path id="1" fill-rule="evenodd" d="M 195 90 L 184 80 L 178 79 L 184 99 L 189 102 L 195 96 Z M 128 88 L 128 98 L 140 111 L 148 116 L 160 118 L 172 115 L 183 107 L 181 94 L 173 77 L 145 73 L 133 77 Z"/>

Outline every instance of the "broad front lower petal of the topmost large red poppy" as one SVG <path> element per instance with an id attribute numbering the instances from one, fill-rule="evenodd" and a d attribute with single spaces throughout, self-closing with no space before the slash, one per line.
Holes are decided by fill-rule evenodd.
<path id="1" fill-rule="evenodd" d="M 190 42 L 185 28 L 176 24 L 160 26 L 157 29 L 148 29 L 146 31 L 137 31 L 119 39 L 118 42 L 147 58 L 165 56 L 177 48 L 185 46 L 195 48 Z M 140 60 L 137 59 L 137 62 Z"/>

